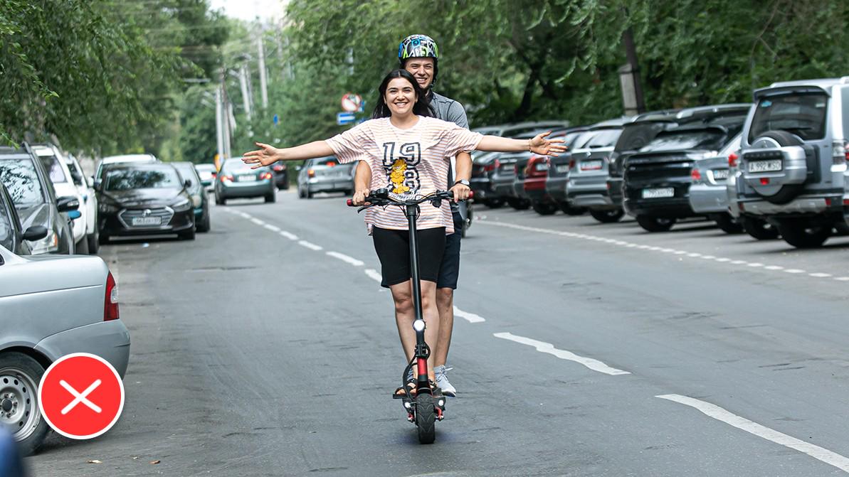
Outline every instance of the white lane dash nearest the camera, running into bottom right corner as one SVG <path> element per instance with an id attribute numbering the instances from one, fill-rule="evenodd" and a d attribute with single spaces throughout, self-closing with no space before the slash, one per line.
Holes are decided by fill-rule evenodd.
<path id="1" fill-rule="evenodd" d="M 843 457 L 838 453 L 831 452 L 820 446 L 814 446 L 805 441 L 796 439 L 781 433 L 775 429 L 770 429 L 761 424 L 742 418 L 732 412 L 728 412 L 722 407 L 719 407 L 710 402 L 700 401 L 689 396 L 681 396 L 678 394 L 666 394 L 655 396 L 668 401 L 678 402 L 684 406 L 694 407 L 706 414 L 706 416 L 722 421 L 725 424 L 734 426 L 737 429 L 745 430 L 749 434 L 756 435 L 767 441 L 775 442 L 781 446 L 790 447 L 790 449 L 806 453 L 807 455 L 817 459 L 818 461 L 827 463 L 831 466 L 841 469 L 844 472 L 849 472 L 849 458 Z"/>

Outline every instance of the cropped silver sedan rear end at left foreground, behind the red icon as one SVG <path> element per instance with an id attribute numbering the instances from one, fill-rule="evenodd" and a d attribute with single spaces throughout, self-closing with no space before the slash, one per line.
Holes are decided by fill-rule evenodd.
<path id="1" fill-rule="evenodd" d="M 97 256 L 25 257 L 0 246 L 0 329 L 0 427 L 12 429 L 25 455 L 48 433 L 37 396 L 51 363 L 85 352 L 127 372 L 130 333 L 115 279 Z"/>

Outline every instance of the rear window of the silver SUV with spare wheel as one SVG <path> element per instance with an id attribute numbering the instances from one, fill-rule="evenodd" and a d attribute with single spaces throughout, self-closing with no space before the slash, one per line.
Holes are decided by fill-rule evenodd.
<path id="1" fill-rule="evenodd" d="M 804 140 L 825 137 L 825 94 L 795 94 L 761 99 L 749 130 L 749 143 L 764 132 L 792 132 Z"/>

